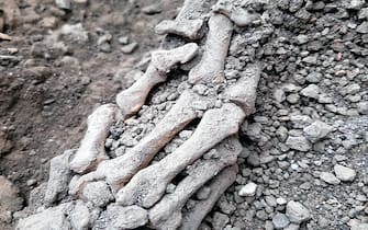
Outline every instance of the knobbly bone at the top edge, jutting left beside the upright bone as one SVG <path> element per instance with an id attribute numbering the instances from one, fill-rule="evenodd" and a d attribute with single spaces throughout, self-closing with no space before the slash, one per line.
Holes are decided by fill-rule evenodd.
<path id="1" fill-rule="evenodd" d="M 200 38 L 200 30 L 210 11 L 211 0 L 186 0 L 177 18 L 164 20 L 156 26 L 156 33 L 176 34 L 190 39 Z"/>

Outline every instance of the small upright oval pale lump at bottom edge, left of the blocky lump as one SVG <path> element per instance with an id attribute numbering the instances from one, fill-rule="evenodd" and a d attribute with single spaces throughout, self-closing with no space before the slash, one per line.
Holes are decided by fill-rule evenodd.
<path id="1" fill-rule="evenodd" d="M 76 230 L 85 230 L 88 228 L 90 219 L 90 212 L 86 204 L 81 200 L 77 200 L 76 206 L 70 212 L 70 223 Z"/>

